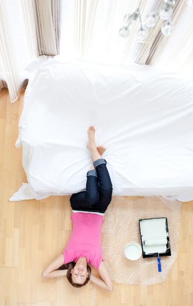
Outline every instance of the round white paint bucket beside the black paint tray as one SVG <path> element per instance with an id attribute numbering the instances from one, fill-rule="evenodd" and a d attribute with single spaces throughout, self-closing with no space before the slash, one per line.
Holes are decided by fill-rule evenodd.
<path id="1" fill-rule="evenodd" d="M 142 255 L 142 247 L 136 241 L 128 242 L 123 249 L 123 256 L 131 261 L 139 259 Z"/>

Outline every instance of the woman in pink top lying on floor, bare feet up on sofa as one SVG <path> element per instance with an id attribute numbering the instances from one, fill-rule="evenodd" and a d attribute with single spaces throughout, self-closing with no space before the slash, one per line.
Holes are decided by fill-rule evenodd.
<path id="1" fill-rule="evenodd" d="M 113 284 L 102 258 L 101 229 L 103 216 L 111 201 L 112 184 L 102 154 L 106 148 L 96 146 L 95 128 L 87 130 L 87 148 L 93 163 L 87 172 L 86 191 L 70 197 L 73 230 L 64 253 L 51 262 L 42 272 L 42 277 L 65 276 L 75 287 L 86 285 L 88 280 L 108 291 Z M 93 276 L 87 265 L 93 265 L 101 279 Z"/>

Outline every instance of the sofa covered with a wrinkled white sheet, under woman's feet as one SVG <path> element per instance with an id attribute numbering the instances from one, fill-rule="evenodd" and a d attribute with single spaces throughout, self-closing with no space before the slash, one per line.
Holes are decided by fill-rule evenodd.
<path id="1" fill-rule="evenodd" d="M 86 188 L 96 128 L 114 196 L 193 200 L 193 78 L 147 65 L 65 62 L 40 56 L 29 82 L 16 147 L 27 182 L 10 201 Z"/>

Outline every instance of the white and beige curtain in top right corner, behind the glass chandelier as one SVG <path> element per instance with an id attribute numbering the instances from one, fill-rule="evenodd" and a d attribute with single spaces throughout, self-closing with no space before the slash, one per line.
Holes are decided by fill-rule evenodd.
<path id="1" fill-rule="evenodd" d="M 173 8 L 174 31 L 169 37 L 160 32 L 151 45 L 148 65 L 193 68 L 193 7 L 177 0 Z"/>

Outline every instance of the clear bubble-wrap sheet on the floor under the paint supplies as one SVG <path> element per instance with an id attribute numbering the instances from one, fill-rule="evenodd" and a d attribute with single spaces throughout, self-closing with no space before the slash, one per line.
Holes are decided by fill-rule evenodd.
<path id="1" fill-rule="evenodd" d="M 134 198 L 134 197 L 133 197 Z M 114 282 L 151 285 L 162 283 L 177 258 L 182 202 L 164 197 L 112 197 L 105 213 L 103 227 L 103 259 Z M 161 257 L 162 272 L 157 258 L 131 261 L 123 256 L 129 241 L 141 243 L 139 219 L 168 219 L 172 256 Z"/>

